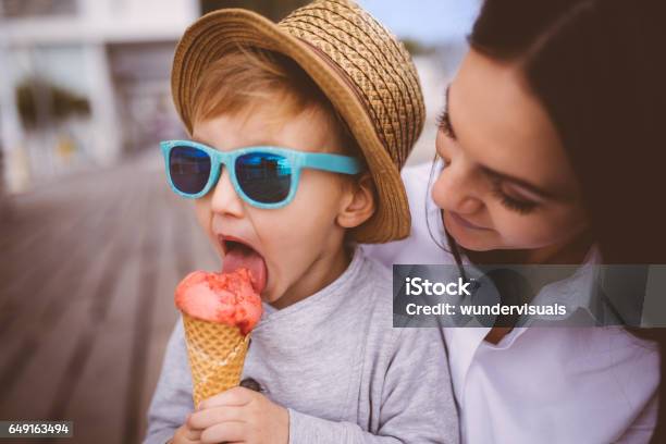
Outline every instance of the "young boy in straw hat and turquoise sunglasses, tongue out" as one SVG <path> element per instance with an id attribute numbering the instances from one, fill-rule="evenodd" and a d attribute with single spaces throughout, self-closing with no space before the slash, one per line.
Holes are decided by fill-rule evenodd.
<path id="1" fill-rule="evenodd" d="M 356 247 L 409 234 L 423 104 L 404 48 L 348 1 L 278 25 L 221 10 L 185 33 L 172 88 L 194 141 L 163 144 L 171 185 L 264 303 L 243 371 L 259 391 L 194 406 L 178 321 L 146 442 L 457 442 L 441 332 L 393 329 L 391 274 Z"/>

